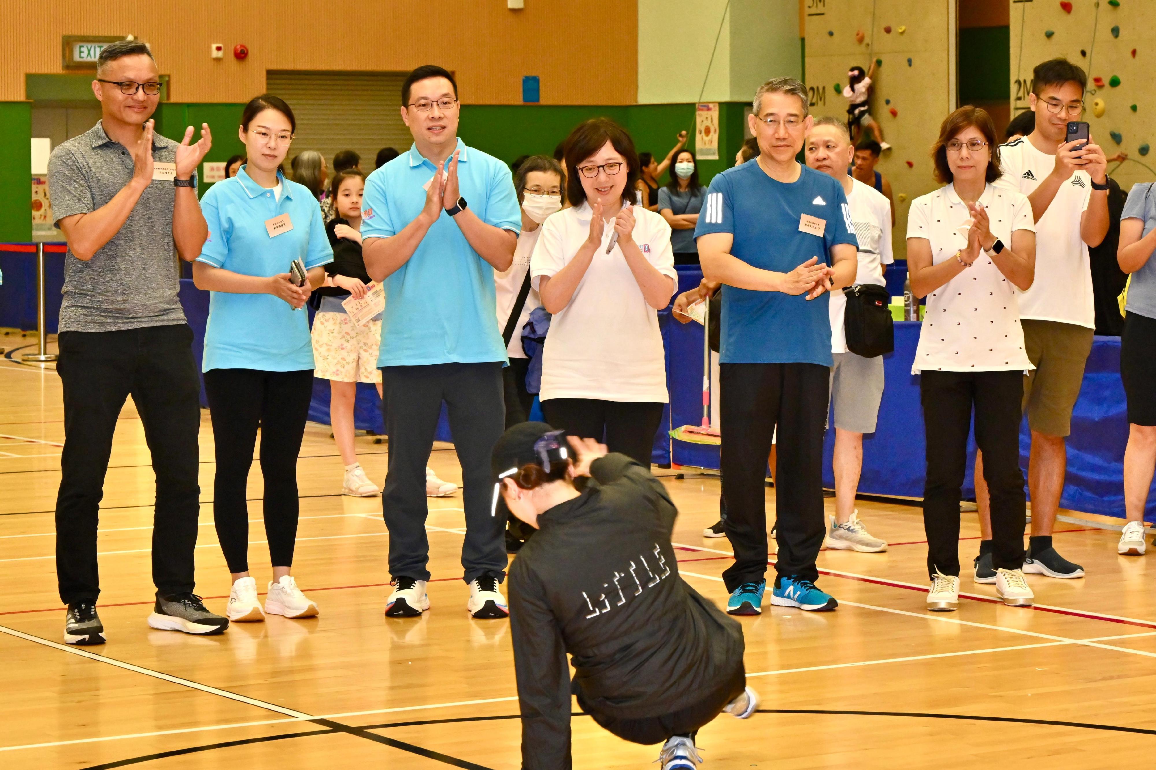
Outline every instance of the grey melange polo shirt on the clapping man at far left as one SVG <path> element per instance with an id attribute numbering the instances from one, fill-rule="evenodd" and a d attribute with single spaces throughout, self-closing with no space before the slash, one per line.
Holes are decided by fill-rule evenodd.
<path id="1" fill-rule="evenodd" d="M 153 137 L 153 159 L 173 163 L 177 142 Z M 105 205 L 133 177 L 133 157 L 98 121 L 52 151 L 49 196 L 53 224 Z M 153 181 L 120 231 L 88 262 L 65 254 L 60 331 L 117 331 L 185 322 L 177 298 L 172 181 Z"/>

